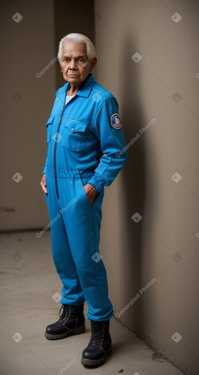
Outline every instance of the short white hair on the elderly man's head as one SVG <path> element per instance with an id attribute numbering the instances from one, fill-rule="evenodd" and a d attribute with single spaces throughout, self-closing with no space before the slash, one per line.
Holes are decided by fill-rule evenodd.
<path id="1" fill-rule="evenodd" d="M 65 40 L 69 40 L 69 43 L 65 46 L 65 48 L 63 50 L 62 46 L 63 46 L 63 43 L 64 43 Z M 67 34 L 66 36 L 64 36 L 60 40 L 59 50 L 58 50 L 58 59 L 59 60 L 61 60 L 63 52 L 67 51 L 70 48 L 70 46 L 73 45 L 75 42 L 86 44 L 86 46 L 87 46 L 87 56 L 88 56 L 89 61 L 91 61 L 94 57 L 96 57 L 95 46 L 92 43 L 92 41 L 86 35 L 78 34 L 78 33 L 71 33 L 71 34 Z"/>

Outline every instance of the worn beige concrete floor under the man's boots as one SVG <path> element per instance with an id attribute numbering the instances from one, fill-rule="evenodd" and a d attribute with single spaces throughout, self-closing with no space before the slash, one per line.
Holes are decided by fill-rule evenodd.
<path id="1" fill-rule="evenodd" d="M 37 232 L 0 235 L 1 374 L 182 374 L 157 353 L 152 359 L 154 350 L 115 318 L 110 320 L 112 353 L 101 367 L 85 368 L 80 363 L 82 350 L 90 340 L 87 318 L 84 334 L 47 340 L 46 325 L 59 319 L 62 284 L 52 261 L 50 232 L 41 238 L 37 238 Z"/>

